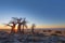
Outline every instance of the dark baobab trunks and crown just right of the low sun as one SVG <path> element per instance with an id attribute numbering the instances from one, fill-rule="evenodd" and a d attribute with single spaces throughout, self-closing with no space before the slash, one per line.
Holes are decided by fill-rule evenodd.
<path id="1" fill-rule="evenodd" d="M 17 32 L 23 32 L 24 33 L 24 27 L 26 27 L 27 28 L 27 22 L 25 20 L 26 18 L 17 18 L 17 17 L 13 17 L 16 22 L 17 22 L 17 24 L 18 24 L 18 26 L 17 26 Z M 21 26 L 23 26 L 23 30 L 21 31 Z"/>

